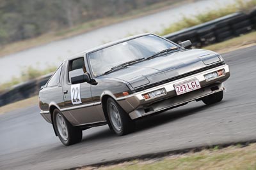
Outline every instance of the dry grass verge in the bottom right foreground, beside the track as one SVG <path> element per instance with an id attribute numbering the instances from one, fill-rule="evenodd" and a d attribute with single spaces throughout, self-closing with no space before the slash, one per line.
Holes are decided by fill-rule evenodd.
<path id="1" fill-rule="evenodd" d="M 201 152 L 190 152 L 180 155 L 170 155 L 161 159 L 133 160 L 113 166 L 84 167 L 89 169 L 256 169 L 256 144 L 243 147 L 229 146 L 219 149 L 218 146 Z"/>

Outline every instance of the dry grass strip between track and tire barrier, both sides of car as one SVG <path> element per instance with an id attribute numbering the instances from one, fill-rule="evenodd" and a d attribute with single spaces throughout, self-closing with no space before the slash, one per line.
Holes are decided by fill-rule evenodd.
<path id="1" fill-rule="evenodd" d="M 239 36 L 237 38 L 232 38 L 227 41 L 223 41 L 221 43 L 217 43 L 215 45 L 206 46 L 204 49 L 214 50 L 219 53 L 225 53 L 253 45 L 256 45 L 256 31 L 243 36 Z M 24 101 L 17 101 L 16 103 L 2 106 L 0 107 L 0 114 L 16 110 L 17 108 L 20 108 L 20 106 L 22 106 L 22 108 L 26 108 L 28 106 L 35 105 L 38 103 L 37 97 L 38 96 L 31 97 Z"/>

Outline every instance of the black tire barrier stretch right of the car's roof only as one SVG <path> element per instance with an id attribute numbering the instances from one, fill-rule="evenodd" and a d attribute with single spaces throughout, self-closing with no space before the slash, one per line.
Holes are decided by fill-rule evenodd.
<path id="1" fill-rule="evenodd" d="M 250 13 L 232 13 L 204 24 L 189 27 L 164 36 L 175 43 L 190 40 L 193 47 L 199 48 L 219 43 L 256 29 L 256 10 Z"/>

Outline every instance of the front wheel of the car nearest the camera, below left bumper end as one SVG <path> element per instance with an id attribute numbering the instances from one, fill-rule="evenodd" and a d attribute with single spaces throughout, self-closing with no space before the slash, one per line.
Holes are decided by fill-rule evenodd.
<path id="1" fill-rule="evenodd" d="M 134 131 L 136 125 L 127 113 L 116 103 L 112 98 L 108 98 L 107 101 L 108 117 L 113 131 L 118 136 L 123 136 Z"/>

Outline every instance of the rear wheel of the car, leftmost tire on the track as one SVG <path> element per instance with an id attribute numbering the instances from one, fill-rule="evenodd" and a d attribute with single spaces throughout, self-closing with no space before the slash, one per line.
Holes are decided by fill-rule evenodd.
<path id="1" fill-rule="evenodd" d="M 82 140 L 82 137 L 83 137 L 82 130 L 79 129 L 79 127 L 73 127 L 68 122 L 68 120 L 62 115 L 60 110 L 55 109 L 53 111 L 53 115 L 52 116 L 53 116 L 54 128 L 55 128 L 55 130 L 56 130 L 56 132 L 58 134 L 58 137 L 59 137 L 61 143 L 63 143 L 63 145 L 66 145 L 66 146 L 73 145 L 75 143 L 79 143 Z M 63 128 L 62 125 L 58 124 L 59 123 L 58 119 L 63 121 L 62 125 L 65 126 L 66 129 Z M 65 132 L 61 132 L 60 128 L 62 129 L 62 131 L 65 131 Z M 65 129 L 65 130 L 63 130 L 63 129 Z"/>

